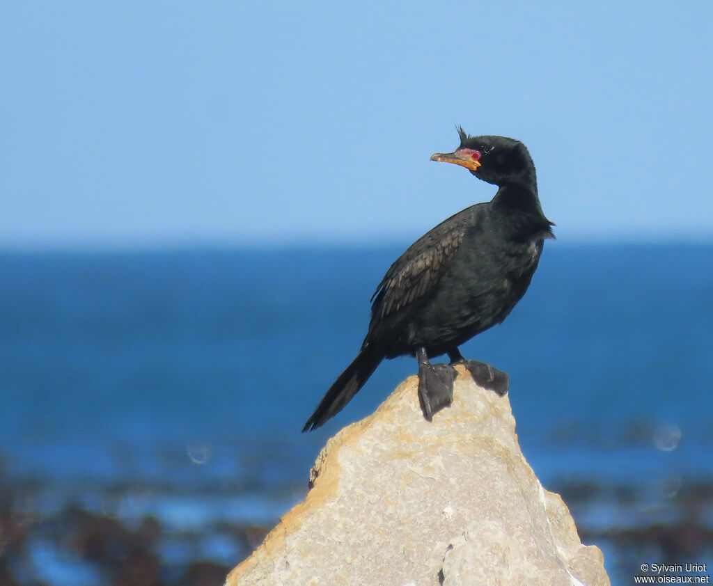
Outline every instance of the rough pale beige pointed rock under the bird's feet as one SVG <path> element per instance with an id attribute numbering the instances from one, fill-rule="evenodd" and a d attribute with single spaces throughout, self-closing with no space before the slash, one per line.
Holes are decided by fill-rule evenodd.
<path id="1" fill-rule="evenodd" d="M 525 461 L 508 398 L 458 368 L 432 423 L 411 376 L 330 439 L 307 498 L 226 585 L 608 585 Z"/>

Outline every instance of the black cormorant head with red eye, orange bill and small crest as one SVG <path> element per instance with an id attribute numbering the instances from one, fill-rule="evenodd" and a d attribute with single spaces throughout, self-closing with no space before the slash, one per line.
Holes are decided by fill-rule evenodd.
<path id="1" fill-rule="evenodd" d="M 495 185 L 523 183 L 537 189 L 535 164 L 523 143 L 504 136 L 471 136 L 458 127 L 461 145 L 453 153 L 436 153 L 431 160 L 455 163 L 478 179 Z"/>

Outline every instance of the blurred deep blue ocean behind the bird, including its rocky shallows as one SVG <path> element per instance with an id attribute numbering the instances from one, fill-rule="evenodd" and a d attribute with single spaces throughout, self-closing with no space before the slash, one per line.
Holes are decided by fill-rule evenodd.
<path id="1" fill-rule="evenodd" d="M 416 373 L 384 362 L 301 433 L 401 250 L 1 253 L 0 582 L 138 584 L 143 563 L 147 584 L 222 583 L 327 438 Z M 712 299 L 713 245 L 547 242 L 461 348 L 510 374 L 525 457 L 614 584 L 713 567 Z"/>

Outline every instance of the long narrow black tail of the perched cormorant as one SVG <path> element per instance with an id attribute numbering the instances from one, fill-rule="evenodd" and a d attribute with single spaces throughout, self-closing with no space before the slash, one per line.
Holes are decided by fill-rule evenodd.
<path id="1" fill-rule="evenodd" d="M 329 387 L 329 391 L 324 394 L 324 398 L 307 419 L 302 431 L 312 431 L 324 425 L 329 418 L 334 417 L 342 411 L 344 406 L 352 400 L 352 397 L 359 392 L 362 386 L 369 380 L 369 376 L 376 370 L 384 359 L 384 354 L 375 352 L 373 349 L 362 349 L 352 364 L 339 375 L 334 384 Z"/>

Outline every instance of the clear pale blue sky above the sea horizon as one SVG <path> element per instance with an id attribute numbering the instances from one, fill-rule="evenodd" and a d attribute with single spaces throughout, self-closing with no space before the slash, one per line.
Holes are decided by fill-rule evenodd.
<path id="1" fill-rule="evenodd" d="M 4 2 L 0 247 L 408 243 L 523 140 L 560 240 L 713 240 L 713 3 Z"/>

